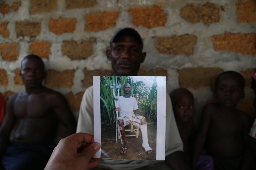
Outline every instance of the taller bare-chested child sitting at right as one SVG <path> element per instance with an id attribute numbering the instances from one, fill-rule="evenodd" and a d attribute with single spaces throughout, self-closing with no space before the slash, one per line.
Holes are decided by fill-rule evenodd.
<path id="1" fill-rule="evenodd" d="M 207 104 L 203 109 L 201 129 L 194 145 L 194 166 L 204 145 L 213 156 L 215 170 L 247 166 L 250 119 L 248 114 L 236 109 L 245 96 L 244 88 L 241 74 L 227 71 L 218 75 L 214 90 L 217 103 Z"/>

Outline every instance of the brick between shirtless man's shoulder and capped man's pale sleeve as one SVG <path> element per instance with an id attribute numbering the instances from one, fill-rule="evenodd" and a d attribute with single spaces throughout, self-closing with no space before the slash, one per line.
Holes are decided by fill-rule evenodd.
<path id="1" fill-rule="evenodd" d="M 65 95 L 65 98 L 68 101 L 69 107 L 72 112 L 79 111 L 83 95 L 84 95 L 84 92 L 79 92 L 76 95 L 70 92 L 69 94 Z"/>

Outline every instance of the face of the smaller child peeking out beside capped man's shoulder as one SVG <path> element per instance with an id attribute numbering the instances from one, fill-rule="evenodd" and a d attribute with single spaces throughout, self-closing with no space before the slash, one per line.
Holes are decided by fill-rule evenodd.
<path id="1" fill-rule="evenodd" d="M 174 101 L 173 109 L 176 119 L 180 121 L 190 121 L 193 118 L 194 99 L 191 95 L 179 96 Z"/>

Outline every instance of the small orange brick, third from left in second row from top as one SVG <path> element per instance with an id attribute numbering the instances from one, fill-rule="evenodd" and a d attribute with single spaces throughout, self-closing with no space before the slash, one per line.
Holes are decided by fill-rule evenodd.
<path id="1" fill-rule="evenodd" d="M 75 31 L 76 18 L 51 19 L 48 23 L 50 32 L 54 34 L 73 33 Z"/>

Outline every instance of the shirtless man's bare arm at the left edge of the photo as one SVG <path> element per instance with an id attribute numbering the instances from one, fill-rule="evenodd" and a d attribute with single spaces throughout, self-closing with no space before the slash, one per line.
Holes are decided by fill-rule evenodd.
<path id="1" fill-rule="evenodd" d="M 2 157 L 8 146 L 10 134 L 16 122 L 16 117 L 13 111 L 13 105 L 16 96 L 17 94 L 9 98 L 6 105 L 6 114 L 0 128 L 0 158 Z"/>

